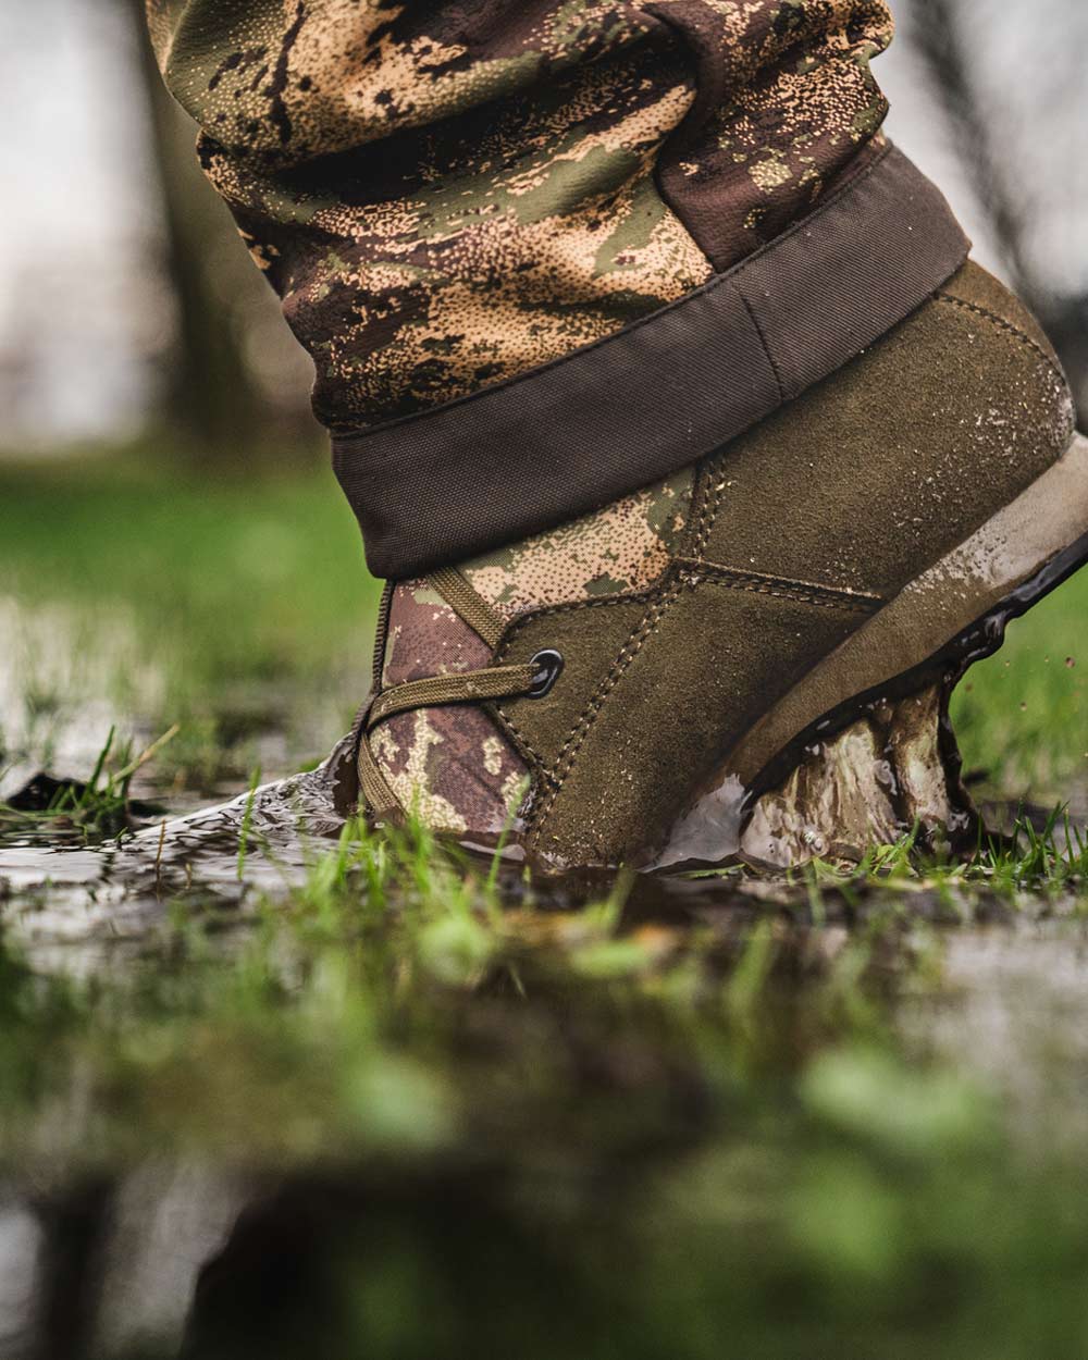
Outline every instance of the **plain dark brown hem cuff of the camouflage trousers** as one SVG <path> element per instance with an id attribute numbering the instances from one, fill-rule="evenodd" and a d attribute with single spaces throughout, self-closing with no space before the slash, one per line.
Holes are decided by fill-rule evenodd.
<path id="1" fill-rule="evenodd" d="M 378 577 L 549 529 L 677 472 L 855 358 L 970 242 L 902 152 L 728 273 L 506 382 L 333 438 Z"/>

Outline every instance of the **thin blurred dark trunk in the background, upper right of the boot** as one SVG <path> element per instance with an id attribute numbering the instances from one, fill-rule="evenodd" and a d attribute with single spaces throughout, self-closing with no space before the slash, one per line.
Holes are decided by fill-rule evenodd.
<path id="1" fill-rule="evenodd" d="M 1030 208 L 1012 189 L 1013 167 L 996 148 L 971 76 L 963 0 L 914 0 L 911 41 L 929 68 L 955 146 L 1005 257 L 1009 283 L 1039 318 L 1069 375 L 1081 420 L 1088 419 L 1088 296 L 1055 292 L 1040 280 L 1028 250 Z"/>

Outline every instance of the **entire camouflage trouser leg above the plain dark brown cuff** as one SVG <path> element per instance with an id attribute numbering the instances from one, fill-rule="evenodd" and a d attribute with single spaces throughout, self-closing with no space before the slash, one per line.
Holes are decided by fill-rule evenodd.
<path id="1" fill-rule="evenodd" d="M 880 144 L 884 0 L 148 0 L 200 158 L 358 430 L 600 340 Z"/>

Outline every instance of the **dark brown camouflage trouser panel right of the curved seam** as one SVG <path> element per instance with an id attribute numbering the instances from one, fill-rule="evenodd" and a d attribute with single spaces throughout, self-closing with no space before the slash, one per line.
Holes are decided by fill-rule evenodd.
<path id="1" fill-rule="evenodd" d="M 888 105 L 869 63 L 884 0 L 664 0 L 700 50 L 702 125 L 664 167 L 666 199 L 725 271 L 806 215 L 864 162 Z"/>

